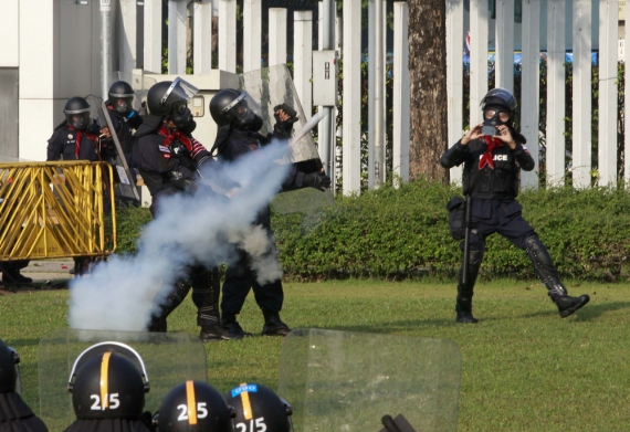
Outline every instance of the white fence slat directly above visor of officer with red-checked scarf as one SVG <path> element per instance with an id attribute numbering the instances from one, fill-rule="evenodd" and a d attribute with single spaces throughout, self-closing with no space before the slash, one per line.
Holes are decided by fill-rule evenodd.
<path id="1" fill-rule="evenodd" d="M 212 0 L 196 2 L 193 8 L 195 74 L 209 74 L 212 69 Z"/>

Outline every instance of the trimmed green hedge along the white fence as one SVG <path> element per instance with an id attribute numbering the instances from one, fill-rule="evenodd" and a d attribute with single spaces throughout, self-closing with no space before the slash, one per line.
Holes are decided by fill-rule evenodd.
<path id="1" fill-rule="evenodd" d="M 461 264 L 449 234 L 445 204 L 460 190 L 417 180 L 385 186 L 335 207 L 273 214 L 285 275 L 318 281 L 345 277 L 400 280 L 452 277 Z M 525 219 L 549 249 L 561 277 L 619 280 L 630 253 L 630 194 L 622 189 L 527 191 L 518 198 Z M 134 253 L 147 209 L 118 214 L 118 252 Z M 487 239 L 482 277 L 534 278 L 527 255 L 500 235 Z"/>

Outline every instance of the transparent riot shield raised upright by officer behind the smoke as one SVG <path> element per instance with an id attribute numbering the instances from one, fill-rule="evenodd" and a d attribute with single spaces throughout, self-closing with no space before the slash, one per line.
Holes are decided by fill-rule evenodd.
<path id="1" fill-rule="evenodd" d="M 294 134 L 300 134 L 304 128 L 308 118 L 304 118 L 304 110 L 286 65 L 281 64 L 248 72 L 239 75 L 239 81 L 241 89 L 246 91 L 255 101 L 260 102 L 263 118 L 261 134 L 265 135 L 273 131 L 273 125 L 275 124 L 273 108 L 283 103 L 292 106 L 300 117 L 293 127 Z M 323 165 L 313 140 L 313 134 L 304 134 L 300 139 L 292 141 L 291 150 L 291 160 L 287 158 L 282 162 L 295 164 L 303 172 L 322 170 Z M 332 190 L 319 191 L 314 188 L 304 188 L 279 193 L 272 206 L 279 213 L 292 213 L 309 211 L 334 203 Z"/>

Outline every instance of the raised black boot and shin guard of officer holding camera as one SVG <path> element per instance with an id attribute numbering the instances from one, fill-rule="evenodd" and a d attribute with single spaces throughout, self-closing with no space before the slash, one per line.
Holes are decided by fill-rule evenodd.
<path id="1" fill-rule="evenodd" d="M 560 318 L 566 318 L 590 301 L 587 294 L 582 294 L 579 297 L 568 295 L 567 288 L 560 282 L 558 273 L 556 272 L 549 251 L 547 251 L 547 247 L 537 235 L 527 238 L 525 244 L 527 245 L 525 252 L 532 260 L 532 263 L 534 263 L 534 268 L 538 277 L 540 277 L 540 281 L 543 281 L 547 287 L 547 294 L 556 306 L 558 306 Z"/>

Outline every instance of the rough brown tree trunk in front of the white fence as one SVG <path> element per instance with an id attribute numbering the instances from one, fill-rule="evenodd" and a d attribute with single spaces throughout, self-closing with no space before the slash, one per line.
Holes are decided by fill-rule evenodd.
<path id="1" fill-rule="evenodd" d="M 447 1 L 409 0 L 409 177 L 448 182 Z"/>

